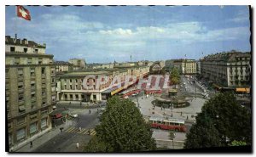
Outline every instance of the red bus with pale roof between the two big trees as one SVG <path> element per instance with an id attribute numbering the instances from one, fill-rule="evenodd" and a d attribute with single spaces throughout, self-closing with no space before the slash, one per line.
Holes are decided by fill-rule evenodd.
<path id="1" fill-rule="evenodd" d="M 176 132 L 186 132 L 185 121 L 183 120 L 150 117 L 149 123 L 152 128 L 163 129 L 163 130 L 173 130 Z"/>

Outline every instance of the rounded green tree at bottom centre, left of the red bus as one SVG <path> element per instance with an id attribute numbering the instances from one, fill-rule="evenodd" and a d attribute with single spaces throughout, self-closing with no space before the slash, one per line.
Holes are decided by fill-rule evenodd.
<path id="1" fill-rule="evenodd" d="M 156 149 L 150 126 L 136 104 L 117 96 L 108 99 L 96 137 L 85 147 L 86 152 L 137 152 Z"/>

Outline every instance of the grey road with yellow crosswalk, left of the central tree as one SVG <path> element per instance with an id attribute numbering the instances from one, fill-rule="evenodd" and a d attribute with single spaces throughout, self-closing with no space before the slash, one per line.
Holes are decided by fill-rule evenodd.
<path id="1" fill-rule="evenodd" d="M 79 118 L 73 118 L 67 121 L 69 125 L 64 128 L 63 132 L 51 138 L 34 152 L 83 152 L 84 145 L 90 141 L 92 133 L 88 135 L 88 131 L 96 133 L 93 128 L 99 123 L 96 109 L 69 109 L 72 114 L 78 114 Z M 81 131 L 79 131 L 81 127 Z M 79 143 L 79 149 L 76 144 Z"/>

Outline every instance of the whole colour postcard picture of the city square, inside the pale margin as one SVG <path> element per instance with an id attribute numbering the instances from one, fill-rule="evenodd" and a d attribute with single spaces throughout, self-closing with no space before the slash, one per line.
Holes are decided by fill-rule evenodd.
<path id="1" fill-rule="evenodd" d="M 249 6 L 5 8 L 7 152 L 251 149 Z"/>

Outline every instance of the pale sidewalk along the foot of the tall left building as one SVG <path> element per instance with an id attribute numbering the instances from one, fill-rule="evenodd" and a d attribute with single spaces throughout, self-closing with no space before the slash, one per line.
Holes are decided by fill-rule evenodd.
<path id="1" fill-rule="evenodd" d="M 70 124 L 71 124 L 70 121 L 66 121 L 65 123 L 61 124 L 60 126 L 57 126 L 55 129 L 53 128 L 53 129 L 49 130 L 49 132 L 44 133 L 44 135 L 32 140 L 32 145 L 33 145 L 32 148 L 30 148 L 30 142 L 28 142 L 28 143 L 26 143 L 26 145 L 24 145 L 20 149 L 16 149 L 15 152 L 32 152 L 32 151 L 38 149 L 38 147 L 40 147 L 41 145 L 43 145 L 44 143 L 49 141 L 51 138 L 58 135 L 61 132 L 60 131 L 61 127 L 64 127 L 64 130 L 65 130 Z"/>

